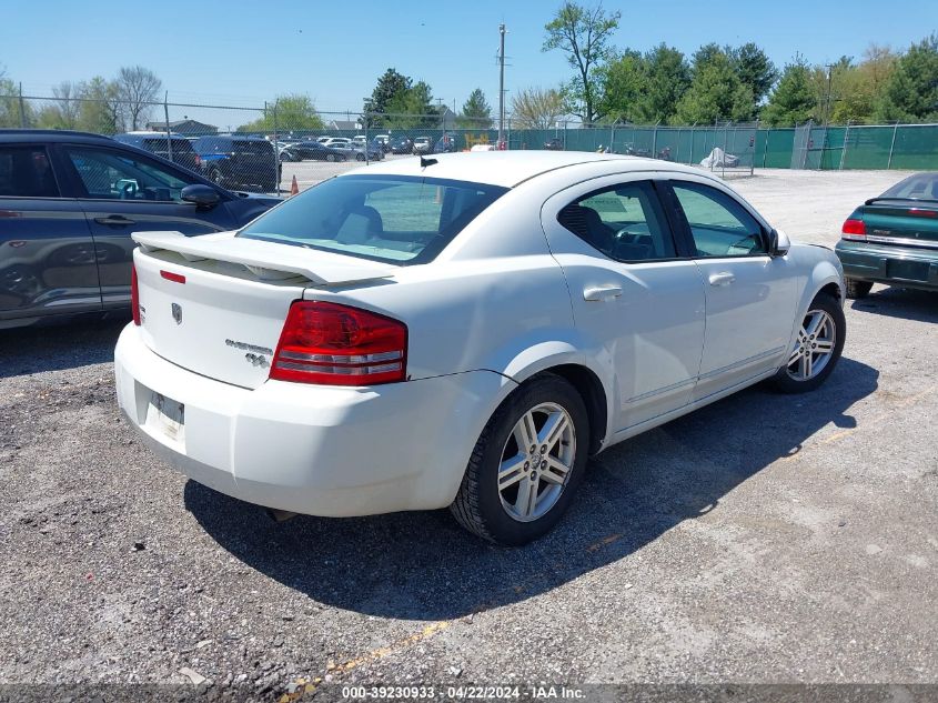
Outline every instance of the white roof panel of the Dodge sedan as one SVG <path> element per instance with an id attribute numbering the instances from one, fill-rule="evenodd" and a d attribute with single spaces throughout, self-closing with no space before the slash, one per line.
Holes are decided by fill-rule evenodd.
<path id="1" fill-rule="evenodd" d="M 699 169 L 694 167 L 670 161 L 588 151 L 475 151 L 440 153 L 427 159 L 435 160 L 436 163 L 421 167 L 421 159 L 414 157 L 374 163 L 366 167 L 366 171 L 356 169 L 350 173 L 420 175 L 488 183 L 505 188 L 513 188 L 548 171 L 603 161 L 617 161 L 623 171 L 647 171 L 650 165 L 656 171 L 702 173 Z"/>

